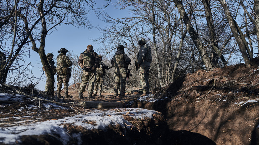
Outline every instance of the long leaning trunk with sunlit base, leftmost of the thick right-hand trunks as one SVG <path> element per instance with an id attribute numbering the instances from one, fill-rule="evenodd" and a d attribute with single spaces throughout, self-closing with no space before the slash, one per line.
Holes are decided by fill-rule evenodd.
<path id="1" fill-rule="evenodd" d="M 174 3 L 176 5 L 176 7 L 178 8 L 181 18 L 184 20 L 184 24 L 189 32 L 189 35 L 191 36 L 195 46 L 199 50 L 199 55 L 202 58 L 202 61 L 205 65 L 206 69 L 208 71 L 213 70 L 215 68 L 215 66 L 210 62 L 210 57 L 209 57 L 208 53 L 206 52 L 206 50 L 203 48 L 203 44 L 199 38 L 199 35 L 192 27 L 191 21 L 190 21 L 189 17 L 187 16 L 181 1 L 174 0 Z"/>

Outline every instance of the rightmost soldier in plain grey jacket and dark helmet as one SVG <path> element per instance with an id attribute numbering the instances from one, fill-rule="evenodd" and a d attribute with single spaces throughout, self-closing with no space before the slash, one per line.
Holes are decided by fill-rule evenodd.
<path id="1" fill-rule="evenodd" d="M 140 46 L 140 49 L 135 63 L 139 68 L 139 78 L 143 90 L 143 94 L 141 96 L 145 96 L 149 93 L 148 76 L 152 61 L 151 48 L 144 39 L 140 39 L 138 41 L 138 45 Z"/>

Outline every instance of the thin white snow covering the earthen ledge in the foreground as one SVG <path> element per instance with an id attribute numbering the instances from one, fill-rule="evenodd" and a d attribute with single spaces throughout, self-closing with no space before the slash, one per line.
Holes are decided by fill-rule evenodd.
<path id="1" fill-rule="evenodd" d="M 65 117 L 58 120 L 48 120 L 44 122 L 31 123 L 29 125 L 12 126 L 12 127 L 1 127 L 0 129 L 0 143 L 1 144 L 16 144 L 16 142 L 21 143 L 20 138 L 23 135 L 42 135 L 50 134 L 56 136 L 60 135 L 62 138 L 62 143 L 65 145 L 70 140 L 71 137 L 77 141 L 77 143 L 82 143 L 81 136 L 79 133 L 73 133 L 71 137 L 66 133 L 64 124 L 71 124 L 73 126 L 81 126 L 85 129 L 101 129 L 106 130 L 109 124 L 116 125 L 120 124 L 124 128 L 131 128 L 127 125 L 132 125 L 130 122 L 123 118 L 123 115 L 130 116 L 132 118 L 153 118 L 153 114 L 156 111 L 147 109 L 136 109 L 136 108 L 118 108 L 118 109 L 108 109 L 108 110 L 91 110 L 87 114 L 75 115 L 73 117 Z M 4 118 L 2 118 L 4 119 Z M 23 122 L 23 121 L 22 121 Z M 20 123 L 20 122 L 16 122 Z M 127 125 L 125 125 L 125 123 Z"/>

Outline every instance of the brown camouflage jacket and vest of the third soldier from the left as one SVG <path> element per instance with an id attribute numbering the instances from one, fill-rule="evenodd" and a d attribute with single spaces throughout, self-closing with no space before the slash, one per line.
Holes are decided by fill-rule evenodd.
<path id="1" fill-rule="evenodd" d="M 96 69 L 99 64 L 99 56 L 96 52 L 91 51 L 88 52 L 85 50 L 83 53 L 80 54 L 78 59 L 78 65 L 83 68 L 84 66 L 87 68 Z"/>

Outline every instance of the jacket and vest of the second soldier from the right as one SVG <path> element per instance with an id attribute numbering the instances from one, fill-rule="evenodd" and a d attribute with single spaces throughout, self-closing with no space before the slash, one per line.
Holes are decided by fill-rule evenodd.
<path id="1" fill-rule="evenodd" d="M 130 62 L 130 58 L 122 50 L 117 50 L 111 59 L 111 65 L 120 68 L 127 68 L 127 65 L 129 65 Z"/>

